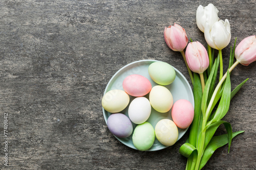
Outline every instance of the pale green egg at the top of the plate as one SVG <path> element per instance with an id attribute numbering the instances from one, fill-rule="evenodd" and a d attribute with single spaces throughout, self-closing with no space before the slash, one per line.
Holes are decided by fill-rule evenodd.
<path id="1" fill-rule="evenodd" d="M 154 82 L 163 86 L 173 83 L 176 77 L 173 66 L 162 61 L 150 64 L 148 74 Z"/>

